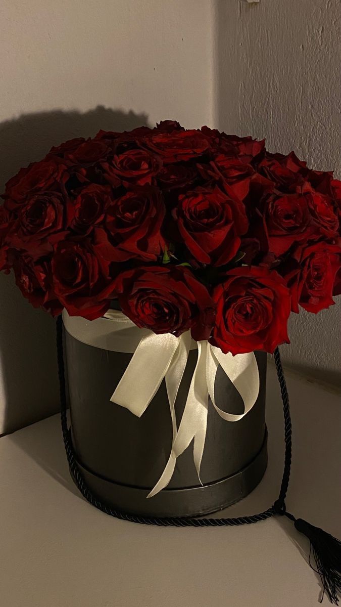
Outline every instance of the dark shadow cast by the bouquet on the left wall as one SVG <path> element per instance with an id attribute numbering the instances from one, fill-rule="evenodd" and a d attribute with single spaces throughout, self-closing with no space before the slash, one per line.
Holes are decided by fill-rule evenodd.
<path id="1" fill-rule="evenodd" d="M 100 129 L 129 131 L 147 124 L 145 114 L 98 106 L 77 111 L 22 115 L 0 124 L 0 191 L 22 167 L 73 137 L 93 137 Z M 27 426 L 59 409 L 55 321 L 35 310 L 0 274 L 0 435 Z"/>

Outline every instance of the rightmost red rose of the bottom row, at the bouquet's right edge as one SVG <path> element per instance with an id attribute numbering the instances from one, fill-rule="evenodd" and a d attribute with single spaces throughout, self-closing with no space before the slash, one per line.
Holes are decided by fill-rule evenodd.
<path id="1" fill-rule="evenodd" d="M 341 248 L 326 242 L 299 246 L 279 271 L 291 291 L 291 309 L 299 305 L 317 313 L 334 304 L 333 288 L 340 268 Z"/>

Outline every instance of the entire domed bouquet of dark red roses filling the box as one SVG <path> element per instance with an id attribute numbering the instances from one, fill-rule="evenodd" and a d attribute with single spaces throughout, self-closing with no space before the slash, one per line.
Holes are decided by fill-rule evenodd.
<path id="1" fill-rule="evenodd" d="M 341 292 L 341 182 L 264 141 L 163 121 L 52 148 L 5 186 L 0 269 L 35 307 L 274 351 Z"/>

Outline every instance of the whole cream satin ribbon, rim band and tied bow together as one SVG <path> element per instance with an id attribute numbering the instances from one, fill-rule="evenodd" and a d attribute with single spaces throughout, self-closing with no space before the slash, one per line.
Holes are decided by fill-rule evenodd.
<path id="1" fill-rule="evenodd" d="M 218 415 L 226 421 L 239 421 L 248 413 L 259 392 L 259 374 L 254 353 L 223 354 L 207 341 L 194 342 L 189 331 L 180 337 L 170 333 L 157 335 L 140 329 L 123 313 L 110 310 L 103 318 L 86 320 L 70 317 L 64 310 L 64 325 L 68 333 L 86 344 L 104 350 L 131 352 L 126 368 L 110 401 L 141 417 L 154 398 L 163 379 L 166 381 L 172 418 L 173 442 L 166 467 L 148 497 L 167 486 L 172 478 L 177 458 L 194 439 L 194 463 L 200 480 L 200 466 L 206 438 L 209 397 Z M 177 429 L 175 400 L 186 367 L 189 350 L 198 348 L 198 360 Z M 214 384 L 218 366 L 223 368 L 244 402 L 244 412 L 226 413 L 215 402 Z M 135 380 L 139 378 L 138 390 Z M 201 482 L 201 481 L 200 481 Z"/>

